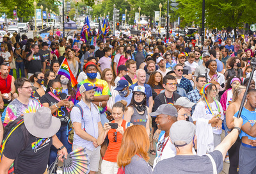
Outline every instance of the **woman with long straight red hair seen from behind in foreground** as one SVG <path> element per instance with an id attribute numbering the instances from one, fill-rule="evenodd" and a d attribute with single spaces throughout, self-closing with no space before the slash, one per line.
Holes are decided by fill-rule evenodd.
<path id="1" fill-rule="evenodd" d="M 148 134 L 143 125 L 133 125 L 124 132 L 120 150 L 117 155 L 117 165 L 124 173 L 152 173 L 147 163 L 149 148 Z"/>

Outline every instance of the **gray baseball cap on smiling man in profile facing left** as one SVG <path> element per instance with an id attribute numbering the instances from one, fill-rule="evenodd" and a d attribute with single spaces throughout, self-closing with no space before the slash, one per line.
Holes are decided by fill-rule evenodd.
<path id="1" fill-rule="evenodd" d="M 172 106 L 172 104 L 162 104 L 160 105 L 154 113 L 150 113 L 150 116 L 157 116 L 157 115 L 170 115 L 178 117 L 177 109 Z"/>

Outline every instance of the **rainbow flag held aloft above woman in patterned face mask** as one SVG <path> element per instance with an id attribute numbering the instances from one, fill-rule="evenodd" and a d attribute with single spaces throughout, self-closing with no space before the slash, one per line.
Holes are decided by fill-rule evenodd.
<path id="1" fill-rule="evenodd" d="M 57 74 L 64 75 L 65 77 L 67 77 L 71 81 L 72 87 L 76 86 L 76 84 L 78 83 L 76 81 L 76 77 L 74 77 L 70 68 L 68 67 L 68 61 L 66 58 L 61 63 L 60 69 L 58 70 Z"/>

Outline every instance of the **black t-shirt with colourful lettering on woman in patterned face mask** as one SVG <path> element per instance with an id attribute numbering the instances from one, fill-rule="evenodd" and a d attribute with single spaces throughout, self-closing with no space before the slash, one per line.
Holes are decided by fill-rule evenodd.
<path id="1" fill-rule="evenodd" d="M 60 100 L 65 99 L 67 94 L 61 93 Z M 58 104 L 58 100 L 54 99 L 49 93 L 45 93 L 40 99 L 41 104 L 48 103 L 49 106 L 53 106 L 54 104 Z M 68 110 L 67 107 L 61 106 L 57 111 L 55 111 L 52 116 L 55 116 L 60 119 L 61 127 L 66 126 L 68 123 Z"/>

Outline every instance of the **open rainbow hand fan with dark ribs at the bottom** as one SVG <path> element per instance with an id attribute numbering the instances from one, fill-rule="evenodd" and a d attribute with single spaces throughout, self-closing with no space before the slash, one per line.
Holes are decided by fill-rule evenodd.
<path id="1" fill-rule="evenodd" d="M 90 171 L 88 155 L 85 154 L 85 148 L 78 148 L 64 158 L 62 172 L 63 174 L 88 174 Z"/>

